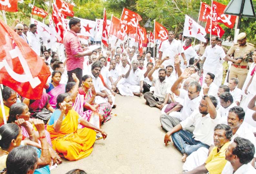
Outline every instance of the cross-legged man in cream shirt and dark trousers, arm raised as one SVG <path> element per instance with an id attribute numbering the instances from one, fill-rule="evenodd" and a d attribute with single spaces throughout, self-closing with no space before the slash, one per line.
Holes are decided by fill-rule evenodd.
<path id="1" fill-rule="evenodd" d="M 158 79 L 153 78 L 152 74 L 156 69 L 159 68 L 159 64 L 156 64 L 152 70 L 148 73 L 148 78 L 150 81 L 155 83 L 155 88 L 153 92 L 146 92 L 144 94 L 144 99 L 146 99 L 146 104 L 150 107 L 157 107 L 158 109 L 162 109 L 162 107 L 171 103 L 170 93 L 171 93 L 171 84 L 167 83 L 165 80 L 166 70 L 159 69 L 158 70 Z"/>

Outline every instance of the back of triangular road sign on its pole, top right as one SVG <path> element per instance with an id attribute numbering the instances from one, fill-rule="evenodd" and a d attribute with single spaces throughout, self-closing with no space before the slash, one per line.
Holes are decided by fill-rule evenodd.
<path id="1" fill-rule="evenodd" d="M 237 42 L 237 35 L 240 30 L 242 16 L 255 18 L 252 0 L 231 0 L 224 10 L 224 14 L 238 16 L 238 22 L 235 29 L 234 43 Z"/>

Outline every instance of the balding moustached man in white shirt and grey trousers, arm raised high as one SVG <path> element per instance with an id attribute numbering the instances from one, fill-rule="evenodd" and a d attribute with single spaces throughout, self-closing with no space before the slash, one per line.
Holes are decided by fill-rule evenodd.
<path id="1" fill-rule="evenodd" d="M 184 79 L 189 76 L 189 68 L 181 74 L 181 76 L 172 85 L 171 91 L 180 98 L 184 99 L 183 108 L 181 112 L 171 112 L 169 115 L 162 114 L 160 116 L 160 122 L 162 128 L 166 131 L 170 131 L 174 126 L 178 125 L 182 120 L 189 117 L 195 109 L 198 109 L 200 100 L 199 92 L 201 91 L 201 86 L 198 82 L 191 82 L 188 87 L 188 91 L 184 89 L 178 89 L 178 86 L 182 83 Z M 193 131 L 191 131 L 193 132 Z"/>

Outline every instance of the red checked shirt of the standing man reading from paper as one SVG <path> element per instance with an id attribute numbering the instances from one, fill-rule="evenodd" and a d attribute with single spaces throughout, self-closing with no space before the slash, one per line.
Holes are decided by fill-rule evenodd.
<path id="1" fill-rule="evenodd" d="M 75 68 L 83 69 L 84 57 L 74 57 L 79 52 L 84 52 L 77 34 L 72 30 L 68 31 L 63 42 L 67 55 L 67 71 L 72 71 Z"/>

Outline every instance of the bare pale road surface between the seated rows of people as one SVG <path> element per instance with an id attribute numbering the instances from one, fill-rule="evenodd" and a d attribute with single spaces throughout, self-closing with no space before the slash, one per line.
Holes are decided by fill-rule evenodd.
<path id="1" fill-rule="evenodd" d="M 165 147 L 160 110 L 145 105 L 143 97 L 116 95 L 116 109 L 102 127 L 108 137 L 94 144 L 91 155 L 79 161 L 63 161 L 52 174 L 83 169 L 87 174 L 178 174 L 182 155 Z M 116 114 L 117 116 L 114 116 Z"/>

